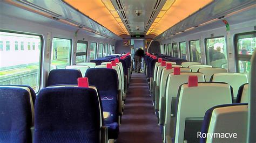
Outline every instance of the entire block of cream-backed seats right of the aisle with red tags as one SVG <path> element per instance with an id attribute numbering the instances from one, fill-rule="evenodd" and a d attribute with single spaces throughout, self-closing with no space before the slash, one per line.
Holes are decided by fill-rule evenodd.
<path id="1" fill-rule="evenodd" d="M 219 108 L 225 110 L 227 107 L 230 109 L 237 109 L 231 110 L 231 112 L 237 116 L 237 111 L 242 108 L 243 116 L 237 118 L 247 118 L 247 116 L 245 116 L 247 110 L 244 110 L 246 109 L 246 104 L 238 104 L 240 105 L 237 106 L 239 109 L 233 108 L 234 104 L 232 104 L 233 95 L 236 97 L 237 92 L 239 93 L 237 97 L 239 103 L 248 102 L 247 75 L 226 73 L 226 69 L 207 67 L 206 65 L 199 65 L 194 62 L 185 62 L 185 64 L 183 64 L 184 67 L 190 67 L 188 69 L 177 68 L 172 65 L 175 63 L 164 61 L 161 58 L 157 59 L 156 56 L 151 54 L 147 54 L 145 59 L 150 59 L 145 61 L 151 62 L 145 63 L 146 65 L 151 65 L 151 67 L 146 66 L 148 68 L 147 70 L 153 69 L 153 71 L 150 72 L 154 73 L 150 80 L 151 83 L 153 83 L 150 84 L 150 92 L 152 94 L 154 107 L 156 108 L 156 114 L 159 119 L 159 126 L 163 133 L 164 142 L 183 142 L 184 140 L 187 140 L 188 142 L 198 142 L 200 138 L 196 138 L 196 133 L 201 130 L 204 115 L 208 109 L 209 111 L 207 111 L 205 115 L 202 133 L 208 133 L 208 131 L 214 133 L 221 129 L 223 129 L 223 131 L 227 130 L 227 128 L 228 130 L 232 129 L 232 127 L 228 126 L 226 126 L 227 128 L 225 126 L 223 126 L 223 128 L 219 127 L 218 129 L 211 128 L 217 124 L 209 124 L 209 115 L 212 113 L 213 109 L 214 111 L 215 109 L 217 110 L 217 108 L 218 110 L 220 110 Z M 152 64 L 152 62 L 154 64 Z M 206 67 L 202 68 L 202 66 Z M 192 68 L 195 68 L 193 70 L 194 72 L 192 72 Z M 200 71 L 203 72 L 200 73 Z M 208 76 L 207 80 L 210 79 L 209 81 L 211 82 L 205 82 L 205 75 Z M 190 80 L 192 77 L 196 77 L 197 79 L 194 85 Z M 237 91 L 238 89 L 240 91 Z M 213 106 L 217 107 L 212 108 Z M 212 108 L 212 110 L 210 108 Z M 217 114 L 214 113 L 214 115 Z M 219 118 L 219 115 L 214 116 L 213 118 Z M 238 120 L 235 121 L 238 122 Z M 219 123 L 220 122 L 218 122 L 218 124 Z M 244 129 L 246 129 L 245 124 L 246 122 L 242 123 L 244 126 L 242 127 L 242 130 L 239 130 L 239 133 L 246 133 L 244 132 Z M 205 128 L 211 129 L 206 130 Z M 235 129 L 237 130 L 238 128 Z M 235 140 L 236 142 L 244 141 L 245 138 L 242 138 L 241 134 L 239 139 Z M 218 139 L 207 139 L 207 141 L 210 140 L 216 141 Z M 201 141 L 205 142 L 206 139 L 201 138 Z"/>

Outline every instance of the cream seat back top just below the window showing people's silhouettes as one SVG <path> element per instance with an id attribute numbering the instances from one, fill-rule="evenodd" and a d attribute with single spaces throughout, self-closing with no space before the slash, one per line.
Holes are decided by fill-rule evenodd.
<path id="1" fill-rule="evenodd" d="M 227 73 L 227 70 L 224 68 L 199 68 L 199 73 L 203 73 L 205 75 L 205 81 L 210 81 L 213 74 L 217 73 Z"/>

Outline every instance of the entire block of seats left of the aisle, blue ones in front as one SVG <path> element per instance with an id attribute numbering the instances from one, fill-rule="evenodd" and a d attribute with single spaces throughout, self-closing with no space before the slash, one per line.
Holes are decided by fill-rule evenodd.
<path id="1" fill-rule="evenodd" d="M 37 97 L 30 87 L 1 86 L 0 121 L 4 126 L 0 126 L 0 142 L 117 139 L 126 94 L 125 70 L 130 74 L 130 63 L 131 55 L 127 53 L 102 65 L 79 63 L 51 70 L 46 88 Z"/>

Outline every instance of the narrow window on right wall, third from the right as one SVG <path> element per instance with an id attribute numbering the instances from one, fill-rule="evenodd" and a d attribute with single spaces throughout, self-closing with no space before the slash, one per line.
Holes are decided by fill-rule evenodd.
<path id="1" fill-rule="evenodd" d="M 201 62 L 201 48 L 200 41 L 189 41 L 190 45 L 190 60 L 193 62 Z"/>

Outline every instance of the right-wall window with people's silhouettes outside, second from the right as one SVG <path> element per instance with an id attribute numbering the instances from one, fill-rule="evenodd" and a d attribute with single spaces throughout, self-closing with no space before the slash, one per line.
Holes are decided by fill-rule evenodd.
<path id="1" fill-rule="evenodd" d="M 227 49 L 224 37 L 205 39 L 207 63 L 212 67 L 224 67 L 227 65 Z"/>

